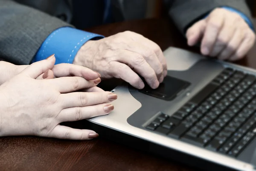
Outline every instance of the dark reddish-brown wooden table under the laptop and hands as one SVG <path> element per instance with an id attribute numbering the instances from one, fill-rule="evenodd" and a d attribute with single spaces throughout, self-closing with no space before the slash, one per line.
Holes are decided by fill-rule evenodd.
<path id="1" fill-rule="evenodd" d="M 186 46 L 186 40 L 171 22 L 164 19 L 148 19 L 114 23 L 87 31 L 113 35 L 131 30 L 159 44 L 162 50 L 176 46 L 198 52 Z M 256 68 L 256 46 L 247 58 L 238 64 Z M 107 81 L 110 82 L 110 81 Z M 113 85 L 108 84 L 107 89 Z M 83 122 L 71 123 L 74 128 Z M 172 154 L 170 154 L 172 155 Z M 101 137 L 89 141 L 71 141 L 33 136 L 0 138 L 1 171 L 194 171 L 188 166 L 135 151 Z"/>

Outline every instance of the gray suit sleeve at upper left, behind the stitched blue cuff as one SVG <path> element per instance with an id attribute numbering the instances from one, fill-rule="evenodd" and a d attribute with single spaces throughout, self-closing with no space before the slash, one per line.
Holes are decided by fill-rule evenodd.
<path id="1" fill-rule="evenodd" d="M 71 25 L 12 0 L 0 0 L 0 57 L 29 64 L 47 36 L 64 26 Z"/>

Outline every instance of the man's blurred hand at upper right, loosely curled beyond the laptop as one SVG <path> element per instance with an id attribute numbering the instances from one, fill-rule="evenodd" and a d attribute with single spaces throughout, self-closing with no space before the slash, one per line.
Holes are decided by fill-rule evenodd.
<path id="1" fill-rule="evenodd" d="M 255 42 L 255 34 L 244 19 L 226 9 L 215 9 L 191 26 L 186 37 L 190 46 L 201 41 L 201 53 L 221 60 L 244 57 Z"/>

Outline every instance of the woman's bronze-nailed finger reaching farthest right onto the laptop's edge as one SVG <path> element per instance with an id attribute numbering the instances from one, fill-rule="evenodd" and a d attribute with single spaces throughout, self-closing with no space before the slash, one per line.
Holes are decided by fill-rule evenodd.
<path id="1" fill-rule="evenodd" d="M 102 103 L 109 103 L 117 99 L 117 95 L 111 92 L 74 92 L 59 96 L 62 107 L 84 107 Z"/>

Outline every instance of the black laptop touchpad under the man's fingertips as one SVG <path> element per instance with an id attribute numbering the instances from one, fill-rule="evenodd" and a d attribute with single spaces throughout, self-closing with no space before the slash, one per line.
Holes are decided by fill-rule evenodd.
<path id="1" fill-rule="evenodd" d="M 163 83 L 161 83 L 157 89 L 151 89 L 148 84 L 145 83 L 145 88 L 139 90 L 139 92 L 163 100 L 172 100 L 189 85 L 190 83 L 187 81 L 167 75 Z"/>

